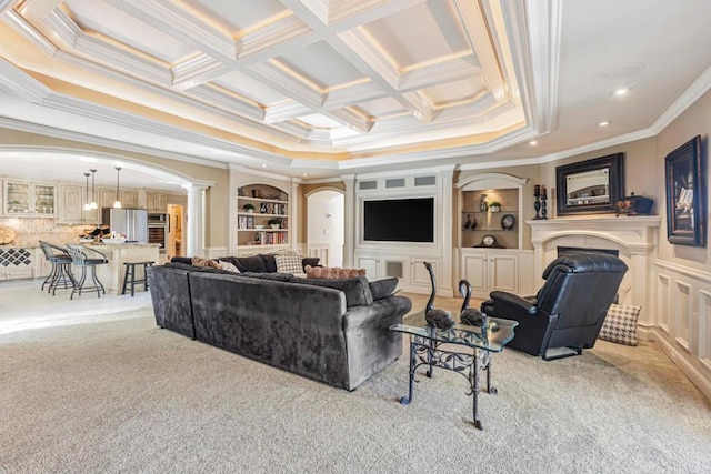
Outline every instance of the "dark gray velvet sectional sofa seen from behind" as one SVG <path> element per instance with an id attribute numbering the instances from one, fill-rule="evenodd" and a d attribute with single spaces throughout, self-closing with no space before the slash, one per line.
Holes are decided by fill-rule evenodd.
<path id="1" fill-rule="evenodd" d="M 314 280 L 173 262 L 148 269 L 156 322 L 198 341 L 354 390 L 401 355 L 411 301 L 397 279 Z"/>

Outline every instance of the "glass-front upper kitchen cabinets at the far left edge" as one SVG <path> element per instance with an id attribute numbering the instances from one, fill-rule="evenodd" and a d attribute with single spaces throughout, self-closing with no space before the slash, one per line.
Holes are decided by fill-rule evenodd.
<path id="1" fill-rule="evenodd" d="M 53 218 L 57 215 L 57 185 L 20 181 L 3 182 L 2 214 Z"/>

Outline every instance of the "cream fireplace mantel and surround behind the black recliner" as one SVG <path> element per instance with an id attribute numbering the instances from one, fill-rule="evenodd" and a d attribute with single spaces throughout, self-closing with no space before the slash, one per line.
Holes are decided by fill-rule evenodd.
<path id="1" fill-rule="evenodd" d="M 650 307 L 653 251 L 661 223 L 659 215 L 534 219 L 525 223 L 531 226 L 533 268 L 539 276 L 558 256 L 558 246 L 618 250 L 630 269 L 620 285 L 620 301 L 642 306 L 640 325 L 644 325 L 644 309 Z"/>

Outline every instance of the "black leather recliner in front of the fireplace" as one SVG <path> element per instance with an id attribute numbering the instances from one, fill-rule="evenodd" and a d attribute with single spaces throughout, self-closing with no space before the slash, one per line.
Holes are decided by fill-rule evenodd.
<path id="1" fill-rule="evenodd" d="M 545 283 L 535 296 L 494 291 L 481 311 L 519 322 L 508 347 L 547 361 L 580 355 L 595 344 L 627 270 L 614 255 L 567 254 L 543 271 Z"/>

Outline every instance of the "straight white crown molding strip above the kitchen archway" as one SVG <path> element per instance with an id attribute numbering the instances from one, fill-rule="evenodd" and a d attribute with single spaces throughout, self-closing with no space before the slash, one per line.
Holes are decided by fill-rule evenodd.
<path id="1" fill-rule="evenodd" d="M 149 147 L 137 145 L 118 140 L 103 139 L 100 137 L 88 135 L 86 133 L 72 132 L 70 130 L 56 129 L 53 127 L 30 123 L 14 119 L 0 117 L 0 128 L 16 130 L 20 132 L 34 133 L 61 140 L 70 140 L 78 143 L 86 143 L 96 147 L 112 148 L 120 151 L 129 151 L 133 153 L 148 154 L 151 157 L 166 158 L 170 160 L 183 161 L 186 163 L 201 164 L 204 167 L 224 169 L 226 164 L 221 161 L 208 160 L 188 154 L 174 153 L 166 150 L 158 150 Z"/>

